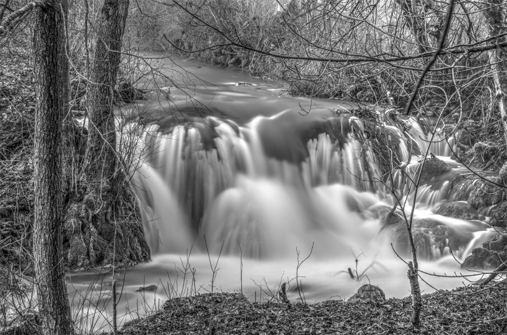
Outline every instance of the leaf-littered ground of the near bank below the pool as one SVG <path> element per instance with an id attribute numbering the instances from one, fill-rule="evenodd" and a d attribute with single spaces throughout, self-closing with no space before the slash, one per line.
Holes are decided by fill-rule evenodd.
<path id="1" fill-rule="evenodd" d="M 423 295 L 421 326 L 412 299 L 315 304 L 252 303 L 241 294 L 175 298 L 126 323 L 119 334 L 505 334 L 507 283 Z"/>

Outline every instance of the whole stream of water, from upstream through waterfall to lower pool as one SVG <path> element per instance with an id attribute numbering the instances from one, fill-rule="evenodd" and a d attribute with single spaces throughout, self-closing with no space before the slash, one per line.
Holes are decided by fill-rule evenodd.
<path id="1" fill-rule="evenodd" d="M 124 132 L 143 125 L 132 180 L 153 258 L 115 273 L 122 320 L 196 291 L 241 291 L 265 301 L 282 282 L 291 301 L 346 299 L 367 282 L 387 297 L 410 294 L 403 229 L 382 229 L 394 202 L 380 182 L 378 150 L 366 141 L 365 123 L 347 112 L 358 106 L 289 97 L 276 81 L 191 60 L 156 65 L 170 80 L 158 80 L 161 93 L 128 106 L 119 119 Z M 408 135 L 385 124 L 415 171 L 435 127 L 429 119 L 406 119 L 404 127 Z M 442 136 L 429 152 L 459 172 Z M 493 233 L 481 221 L 434 214 L 446 201 L 449 176 L 421 187 L 416 201 L 420 266 L 429 273 L 463 273 L 450 252 L 461 261 Z M 413 193 L 400 173 L 393 183 L 408 196 L 410 213 Z M 424 278 L 424 292 L 463 281 Z M 85 315 L 107 310 L 112 280 L 112 273 L 70 274 L 74 308 Z M 85 308 L 80 296 L 92 297 Z M 100 313 L 98 326 L 111 320 L 110 307 Z"/>

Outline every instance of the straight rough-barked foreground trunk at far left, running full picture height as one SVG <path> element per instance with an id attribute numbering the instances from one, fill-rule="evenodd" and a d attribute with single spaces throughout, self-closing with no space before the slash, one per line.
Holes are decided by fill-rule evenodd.
<path id="1" fill-rule="evenodd" d="M 60 1 L 37 10 L 34 26 L 35 136 L 33 259 L 45 334 L 73 334 L 62 255 L 63 69 Z"/>

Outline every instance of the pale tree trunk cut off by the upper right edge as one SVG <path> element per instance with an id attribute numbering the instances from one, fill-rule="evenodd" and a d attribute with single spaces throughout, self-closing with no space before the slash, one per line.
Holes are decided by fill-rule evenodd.
<path id="1" fill-rule="evenodd" d="M 503 0 L 487 0 L 485 6 L 484 17 L 489 37 L 505 33 L 505 2 Z M 502 118 L 503 135 L 507 143 L 507 55 L 504 47 L 498 46 L 499 43 L 505 43 L 506 41 L 505 36 L 493 39 L 493 44 L 497 47 L 495 50 L 489 51 L 489 62 L 495 82 L 498 109 Z"/>

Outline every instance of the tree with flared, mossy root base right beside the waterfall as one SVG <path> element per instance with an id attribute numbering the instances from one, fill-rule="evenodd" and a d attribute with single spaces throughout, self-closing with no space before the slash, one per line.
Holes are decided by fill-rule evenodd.
<path id="1" fill-rule="evenodd" d="M 70 268 L 132 265 L 150 258 L 118 158 L 113 112 L 128 5 L 128 0 L 105 0 L 98 20 L 84 174 L 67 216 Z"/>

